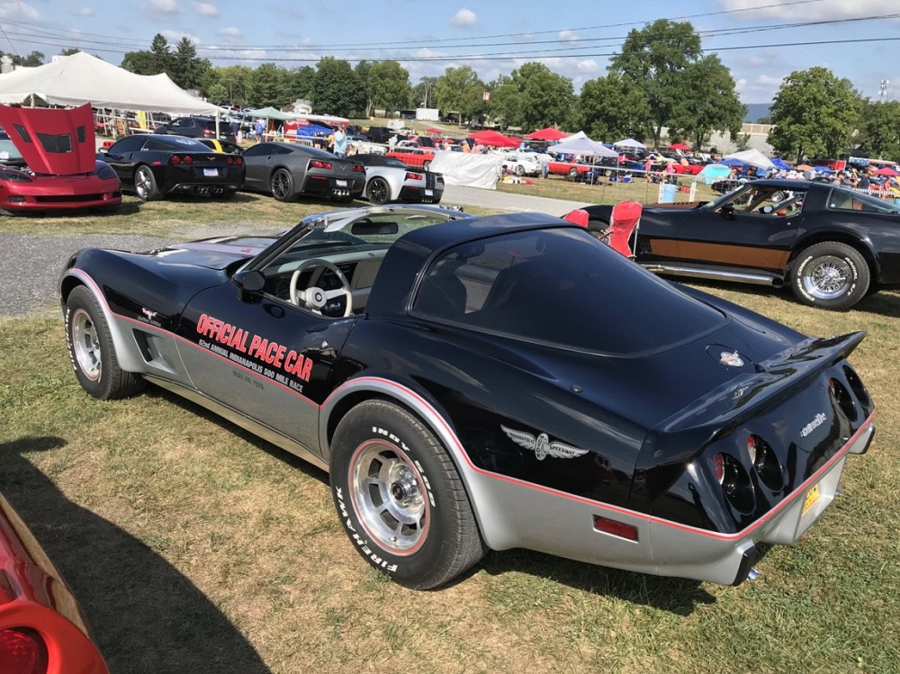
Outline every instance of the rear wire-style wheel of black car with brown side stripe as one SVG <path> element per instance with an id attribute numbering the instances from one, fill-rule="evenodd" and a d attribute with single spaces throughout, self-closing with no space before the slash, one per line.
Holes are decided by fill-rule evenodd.
<path id="1" fill-rule="evenodd" d="M 812 307 L 850 309 L 866 296 L 870 281 L 869 265 L 860 252 L 837 241 L 806 248 L 791 266 L 794 294 Z"/>

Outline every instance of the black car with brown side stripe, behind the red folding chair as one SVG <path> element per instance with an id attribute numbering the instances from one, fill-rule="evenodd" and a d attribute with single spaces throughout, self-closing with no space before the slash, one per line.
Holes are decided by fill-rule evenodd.
<path id="1" fill-rule="evenodd" d="M 609 221 L 611 206 L 590 206 Z M 754 180 L 714 202 L 644 207 L 637 261 L 661 274 L 789 285 L 846 310 L 900 286 L 900 206 L 823 183 Z"/>

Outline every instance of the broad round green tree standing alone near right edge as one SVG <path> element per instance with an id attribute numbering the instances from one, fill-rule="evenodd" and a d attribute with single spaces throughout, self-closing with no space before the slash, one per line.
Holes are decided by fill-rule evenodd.
<path id="1" fill-rule="evenodd" d="M 860 121 L 862 99 L 826 67 L 797 70 L 781 83 L 771 117 L 769 144 L 782 157 L 839 157 Z"/>

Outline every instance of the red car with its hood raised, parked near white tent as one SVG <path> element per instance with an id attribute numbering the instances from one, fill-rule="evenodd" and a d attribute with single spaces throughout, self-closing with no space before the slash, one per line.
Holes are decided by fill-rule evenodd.
<path id="1" fill-rule="evenodd" d="M 70 110 L 0 105 L 0 126 L 25 166 L 0 166 L 0 213 L 118 211 L 115 171 L 95 158 L 94 116 Z"/>

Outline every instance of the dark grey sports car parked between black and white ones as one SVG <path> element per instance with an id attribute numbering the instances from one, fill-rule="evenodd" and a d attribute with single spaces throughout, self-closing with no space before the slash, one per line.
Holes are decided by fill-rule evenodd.
<path id="1" fill-rule="evenodd" d="M 279 202 L 300 196 L 352 202 L 365 189 L 365 167 L 356 157 L 342 159 L 330 152 L 293 143 L 257 143 L 244 150 L 247 190 L 272 194 Z"/>

